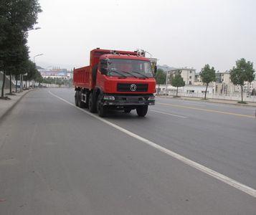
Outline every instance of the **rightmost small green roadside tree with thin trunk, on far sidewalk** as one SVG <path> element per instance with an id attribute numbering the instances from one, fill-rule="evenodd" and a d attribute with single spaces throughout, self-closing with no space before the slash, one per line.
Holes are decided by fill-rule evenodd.
<path id="1" fill-rule="evenodd" d="M 243 93 L 243 87 L 245 82 L 252 82 L 255 78 L 255 70 L 253 69 L 253 63 L 245 60 L 245 58 L 238 59 L 236 67 L 230 70 L 230 80 L 234 85 L 240 85 L 241 96 Z M 243 97 L 241 102 L 243 102 Z"/>

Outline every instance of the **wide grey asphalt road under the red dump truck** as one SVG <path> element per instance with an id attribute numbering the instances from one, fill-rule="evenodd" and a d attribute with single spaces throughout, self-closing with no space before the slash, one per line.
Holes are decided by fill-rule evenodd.
<path id="1" fill-rule="evenodd" d="M 101 120 L 73 104 L 35 90 L 1 122 L 0 214 L 256 214 L 254 108 L 157 98 Z"/>

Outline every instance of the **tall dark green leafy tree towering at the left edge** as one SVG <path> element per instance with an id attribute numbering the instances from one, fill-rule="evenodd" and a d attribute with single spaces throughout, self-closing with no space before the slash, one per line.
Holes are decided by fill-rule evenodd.
<path id="1" fill-rule="evenodd" d="M 16 58 L 22 46 L 27 43 L 27 31 L 37 23 L 37 14 L 41 12 L 37 0 L 9 0 L 0 4 L 0 70 L 11 75 Z M 10 89 L 11 90 L 11 89 Z M 4 97 L 4 82 L 1 90 Z"/>

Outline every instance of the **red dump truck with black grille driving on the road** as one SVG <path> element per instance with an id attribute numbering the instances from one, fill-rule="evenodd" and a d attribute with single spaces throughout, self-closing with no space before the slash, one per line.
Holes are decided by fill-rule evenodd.
<path id="1" fill-rule="evenodd" d="M 144 52 L 93 49 L 90 65 L 74 68 L 75 105 L 105 117 L 110 110 L 144 117 L 155 105 L 156 80 Z"/>

